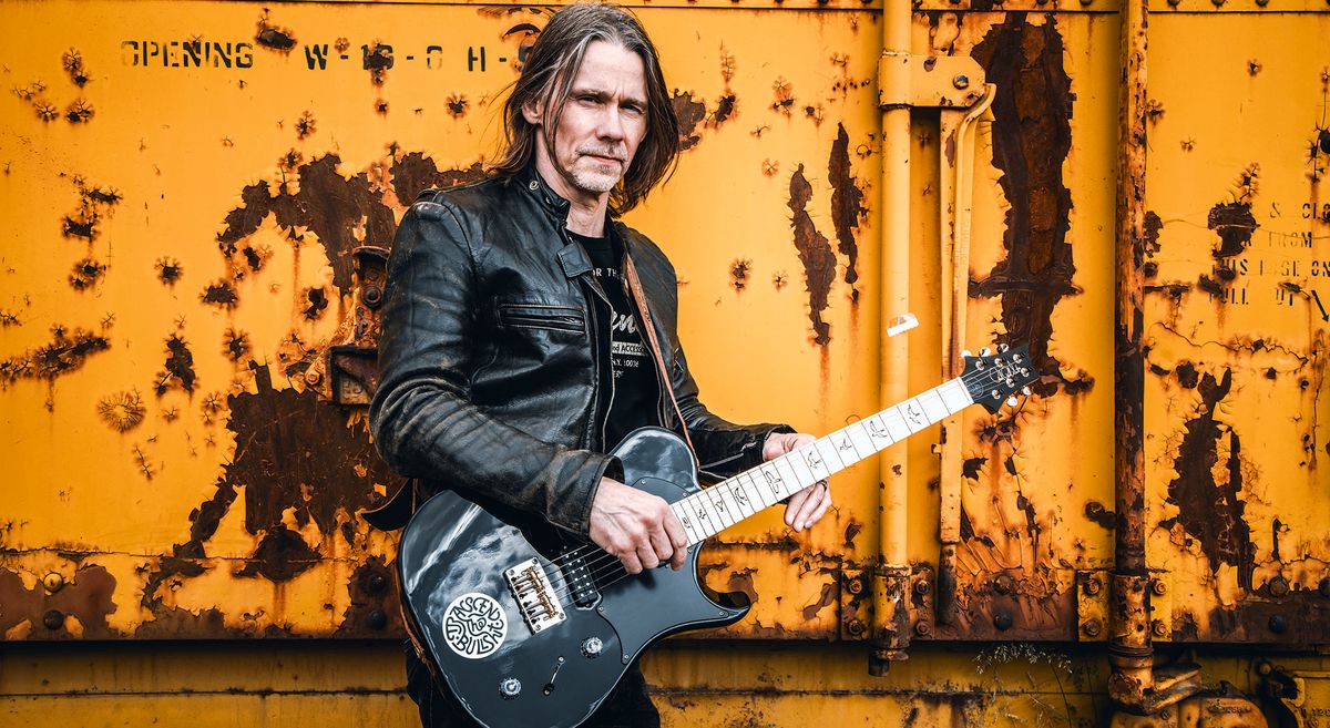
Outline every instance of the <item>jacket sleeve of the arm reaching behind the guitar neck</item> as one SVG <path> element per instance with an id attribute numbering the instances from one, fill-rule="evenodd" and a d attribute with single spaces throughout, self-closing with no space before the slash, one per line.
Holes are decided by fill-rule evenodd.
<path id="1" fill-rule="evenodd" d="M 762 464 L 762 445 L 773 432 L 794 432 L 789 425 L 762 422 L 735 425 L 717 417 L 697 397 L 697 383 L 688 371 L 684 349 L 674 351 L 672 380 L 678 409 L 697 449 L 704 473 L 729 477 Z"/>

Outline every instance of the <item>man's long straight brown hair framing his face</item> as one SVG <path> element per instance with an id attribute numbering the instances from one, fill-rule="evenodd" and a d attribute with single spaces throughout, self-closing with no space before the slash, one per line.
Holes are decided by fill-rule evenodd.
<path id="1" fill-rule="evenodd" d="M 592 41 L 622 45 L 637 53 L 646 68 L 646 136 L 637 147 L 632 166 L 609 193 L 614 214 L 632 210 L 646 193 L 666 179 L 678 158 L 678 118 L 670 104 L 656 46 L 646 31 L 628 11 L 617 5 L 577 3 L 549 19 L 536 44 L 527 53 L 521 77 L 504 104 L 504 151 L 492 167 L 496 177 L 513 177 L 532 163 L 536 154 L 536 126 L 521 110 L 544 106 L 545 146 L 555 149 L 555 130 L 568 102 L 573 77 L 581 68 Z"/>

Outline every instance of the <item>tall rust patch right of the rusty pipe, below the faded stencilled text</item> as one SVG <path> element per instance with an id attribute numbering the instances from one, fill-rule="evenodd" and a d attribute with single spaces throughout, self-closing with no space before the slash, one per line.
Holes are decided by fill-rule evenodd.
<path id="1" fill-rule="evenodd" d="M 1173 462 L 1177 477 L 1168 486 L 1168 502 L 1178 507 L 1178 515 L 1161 521 L 1160 527 L 1181 526 L 1200 542 L 1212 570 L 1217 571 L 1224 563 L 1236 567 L 1238 583 L 1250 591 L 1256 545 L 1252 543 L 1252 527 L 1242 519 L 1246 503 L 1238 498 L 1242 490 L 1241 441 L 1230 425 L 1216 417 L 1216 407 L 1232 387 L 1230 369 L 1218 380 L 1210 373 L 1201 376 L 1197 385 L 1200 414 L 1184 425 Z M 1217 469 L 1225 437 L 1228 457 L 1224 468 Z"/>

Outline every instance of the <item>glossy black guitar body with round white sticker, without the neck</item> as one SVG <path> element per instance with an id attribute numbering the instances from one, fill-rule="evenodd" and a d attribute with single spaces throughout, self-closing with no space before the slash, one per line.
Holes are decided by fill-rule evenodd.
<path id="1" fill-rule="evenodd" d="M 613 454 L 628 485 L 668 502 L 700 490 L 692 453 L 668 430 L 640 429 Z M 454 492 L 402 534 L 407 627 L 435 682 L 488 728 L 580 725 L 648 646 L 747 614 L 746 595 L 701 582 L 700 546 L 680 571 L 637 575 L 595 546 L 572 547 L 529 514 Z"/>

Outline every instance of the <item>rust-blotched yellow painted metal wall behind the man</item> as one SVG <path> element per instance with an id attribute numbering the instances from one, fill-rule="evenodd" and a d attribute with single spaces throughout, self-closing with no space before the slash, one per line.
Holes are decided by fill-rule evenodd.
<path id="1" fill-rule="evenodd" d="M 773 511 L 712 546 L 708 582 L 758 604 L 704 635 L 739 642 L 648 659 L 669 724 L 1107 716 L 1116 11 L 915 7 L 915 53 L 971 56 L 996 85 L 960 155 L 974 209 L 958 292 L 939 247 L 966 225 L 943 198 L 958 147 L 936 110 L 912 114 L 911 239 L 880 239 L 880 3 L 637 8 L 685 151 L 629 223 L 678 268 L 713 409 L 807 432 L 875 412 L 882 329 L 903 312 L 884 310 L 883 246 L 910 247 L 910 391 L 940 381 L 958 323 L 975 349 L 1029 341 L 1043 375 L 1017 412 L 972 410 L 946 444 L 934 428 L 904 445 L 910 663 L 864 674 L 878 485 L 898 477 L 864 464 L 837 478 L 838 509 L 811 533 Z M 1266 643 L 1204 660 L 1208 679 L 1257 692 L 1262 656 L 1315 671 L 1283 650 L 1330 642 L 1330 12 L 1150 11 L 1152 631 Z M 396 647 L 350 639 L 400 635 L 392 539 L 355 515 L 395 485 L 359 404 L 380 283 L 366 250 L 391 244 L 420 189 L 477 178 L 548 12 L 0 4 L 0 631 L 13 647 L 0 715 L 408 724 Z M 963 315 L 948 318 L 958 294 Z M 944 492 L 960 502 L 946 594 Z M 233 642 L 203 643 L 218 655 L 203 663 L 181 639 Z"/>

